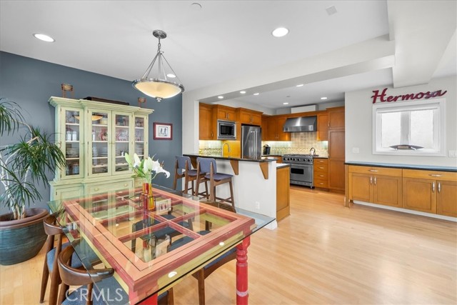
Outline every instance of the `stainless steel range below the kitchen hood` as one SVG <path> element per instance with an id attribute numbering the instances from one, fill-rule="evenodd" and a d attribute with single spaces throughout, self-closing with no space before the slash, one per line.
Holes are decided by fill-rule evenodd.
<path id="1" fill-rule="evenodd" d="M 291 164 L 291 184 L 314 188 L 313 157 L 314 154 L 285 154 L 283 163 Z"/>

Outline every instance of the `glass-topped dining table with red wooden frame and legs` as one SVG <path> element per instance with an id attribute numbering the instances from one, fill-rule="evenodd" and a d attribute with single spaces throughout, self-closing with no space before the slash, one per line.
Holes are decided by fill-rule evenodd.
<path id="1" fill-rule="evenodd" d="M 250 236 L 274 219 L 163 186 L 152 193 L 154 209 L 141 204 L 141 189 L 49 202 L 84 267 L 114 269 L 94 290 L 106 304 L 156 304 L 179 279 L 236 248 L 233 291 L 247 304 Z"/>

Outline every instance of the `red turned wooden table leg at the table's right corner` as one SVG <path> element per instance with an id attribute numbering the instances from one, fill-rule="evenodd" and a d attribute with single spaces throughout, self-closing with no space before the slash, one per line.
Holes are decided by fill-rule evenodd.
<path id="1" fill-rule="evenodd" d="M 250 236 L 236 246 L 236 304 L 248 304 L 248 246 Z"/>

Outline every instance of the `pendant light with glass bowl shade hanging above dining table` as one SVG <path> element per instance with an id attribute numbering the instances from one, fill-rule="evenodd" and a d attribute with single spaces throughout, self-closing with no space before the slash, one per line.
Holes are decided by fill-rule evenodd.
<path id="1" fill-rule="evenodd" d="M 132 86 L 143 94 L 161 101 L 184 92 L 184 86 L 179 81 L 169 62 L 166 61 L 164 51 L 161 51 L 160 40 L 166 38 L 166 33 L 161 30 L 154 30 L 152 34 L 159 39 L 157 54 L 148 69 L 146 69 L 146 72 L 141 76 L 141 79 L 136 79 Z M 156 67 L 154 67 L 154 64 L 156 64 Z"/>

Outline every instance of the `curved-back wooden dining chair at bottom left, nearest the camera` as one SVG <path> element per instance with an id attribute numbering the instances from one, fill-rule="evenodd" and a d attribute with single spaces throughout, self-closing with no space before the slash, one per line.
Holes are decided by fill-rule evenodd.
<path id="1" fill-rule="evenodd" d="M 59 292 L 59 304 L 76 305 L 81 304 L 81 301 L 86 301 L 86 304 L 126 304 L 129 301 L 129 296 L 122 289 L 116 279 L 112 276 L 114 269 L 92 269 L 81 270 L 71 267 L 71 256 L 74 254 L 72 246 L 67 247 L 59 254 L 57 259 L 59 273 L 61 274 L 62 285 Z M 94 288 L 94 283 L 96 287 Z M 78 289 L 68 294 L 69 286 L 79 286 Z M 94 298 L 92 298 L 94 295 Z M 88 297 L 90 296 L 90 297 Z M 110 296 L 110 299 L 105 299 Z M 173 290 L 169 289 L 157 298 L 157 303 L 160 305 L 174 304 Z"/>

